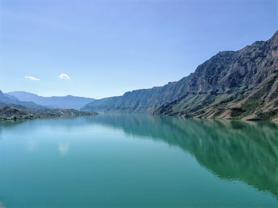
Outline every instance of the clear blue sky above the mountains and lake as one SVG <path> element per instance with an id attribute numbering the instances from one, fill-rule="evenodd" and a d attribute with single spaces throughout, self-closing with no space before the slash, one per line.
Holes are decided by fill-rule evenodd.
<path id="1" fill-rule="evenodd" d="M 42 96 L 99 99 L 162 86 L 278 30 L 276 0 L 0 4 L 0 90 Z"/>

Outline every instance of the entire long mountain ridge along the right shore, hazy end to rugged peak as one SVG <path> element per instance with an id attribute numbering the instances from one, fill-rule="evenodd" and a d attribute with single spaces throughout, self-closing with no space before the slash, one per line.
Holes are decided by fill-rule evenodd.
<path id="1" fill-rule="evenodd" d="M 278 31 L 239 51 L 223 51 L 162 87 L 103 98 L 80 110 L 198 118 L 278 120 Z"/>

